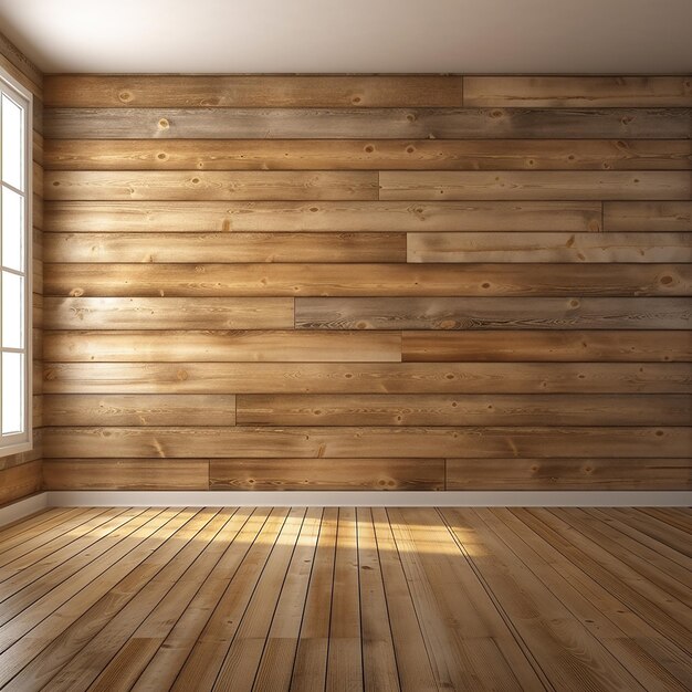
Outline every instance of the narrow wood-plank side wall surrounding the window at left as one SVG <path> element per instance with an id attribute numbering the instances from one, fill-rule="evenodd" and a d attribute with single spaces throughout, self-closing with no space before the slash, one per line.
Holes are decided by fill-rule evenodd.
<path id="1" fill-rule="evenodd" d="M 42 337 L 43 310 L 43 75 L 0 33 L 0 66 L 33 94 L 33 449 L 0 457 L 0 505 L 41 490 L 42 455 Z"/>

